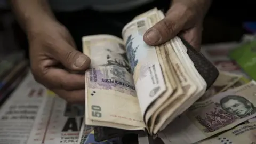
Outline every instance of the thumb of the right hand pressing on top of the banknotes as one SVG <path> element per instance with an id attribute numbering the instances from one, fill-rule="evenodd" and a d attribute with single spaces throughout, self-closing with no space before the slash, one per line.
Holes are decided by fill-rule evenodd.
<path id="1" fill-rule="evenodd" d="M 148 45 L 159 45 L 176 36 L 185 26 L 187 10 L 182 6 L 173 6 L 166 17 L 148 29 L 143 36 Z"/>

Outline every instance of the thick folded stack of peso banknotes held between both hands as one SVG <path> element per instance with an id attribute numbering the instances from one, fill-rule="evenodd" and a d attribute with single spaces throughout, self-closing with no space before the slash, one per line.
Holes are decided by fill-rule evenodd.
<path id="1" fill-rule="evenodd" d="M 159 46 L 143 41 L 146 30 L 163 18 L 162 11 L 152 9 L 127 23 L 123 39 L 111 35 L 82 38 L 83 52 L 91 58 L 85 72 L 86 125 L 156 134 L 218 77 L 210 62 L 199 59 L 202 55 L 194 55 L 195 63 L 178 36 Z"/>

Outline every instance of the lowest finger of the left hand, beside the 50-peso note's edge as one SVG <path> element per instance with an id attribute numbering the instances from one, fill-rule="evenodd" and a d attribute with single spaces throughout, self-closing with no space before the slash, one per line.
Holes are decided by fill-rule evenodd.
<path id="1" fill-rule="evenodd" d="M 65 99 L 68 103 L 81 103 L 84 104 L 85 100 L 85 91 L 82 90 L 75 90 L 75 91 L 66 91 L 60 89 L 52 90 L 56 93 L 59 97 Z"/>

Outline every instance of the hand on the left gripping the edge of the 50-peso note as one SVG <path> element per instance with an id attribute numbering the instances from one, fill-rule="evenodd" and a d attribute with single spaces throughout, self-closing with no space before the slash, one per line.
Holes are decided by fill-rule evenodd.
<path id="1" fill-rule="evenodd" d="M 84 71 L 90 65 L 90 58 L 76 50 L 69 31 L 60 23 L 41 24 L 28 31 L 30 64 L 35 80 L 69 103 L 83 103 Z"/>

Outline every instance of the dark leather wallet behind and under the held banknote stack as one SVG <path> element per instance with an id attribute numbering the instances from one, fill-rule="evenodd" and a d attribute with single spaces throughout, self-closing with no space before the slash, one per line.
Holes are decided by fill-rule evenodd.
<path id="1" fill-rule="evenodd" d="M 195 68 L 204 78 L 207 89 L 215 82 L 217 77 L 219 76 L 218 69 L 209 61 L 207 60 L 203 54 L 197 52 L 188 42 L 185 41 L 182 37 L 181 41 L 187 47 L 187 54 L 189 55 L 190 59 L 193 61 Z M 99 127 L 94 126 L 94 135 L 95 141 L 102 141 L 106 139 L 111 139 L 115 137 L 123 137 L 125 134 L 129 133 L 146 133 L 144 131 L 127 131 L 121 129 L 114 129 L 111 127 Z"/>

